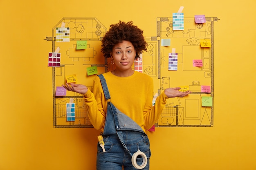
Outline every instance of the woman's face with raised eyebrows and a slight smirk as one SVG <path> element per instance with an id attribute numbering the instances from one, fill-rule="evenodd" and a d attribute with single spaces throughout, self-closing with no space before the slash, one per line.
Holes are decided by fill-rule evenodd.
<path id="1" fill-rule="evenodd" d="M 115 44 L 110 54 L 115 61 L 116 70 L 127 71 L 132 69 L 136 51 L 130 41 L 123 41 Z"/>

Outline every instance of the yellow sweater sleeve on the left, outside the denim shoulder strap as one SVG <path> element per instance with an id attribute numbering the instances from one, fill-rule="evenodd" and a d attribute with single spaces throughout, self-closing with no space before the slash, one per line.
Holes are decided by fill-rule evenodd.
<path id="1" fill-rule="evenodd" d="M 106 114 L 103 110 L 102 95 L 99 93 L 99 86 L 94 81 L 93 93 L 88 89 L 84 94 L 85 104 L 88 110 L 88 118 L 92 126 L 103 132 Z"/>

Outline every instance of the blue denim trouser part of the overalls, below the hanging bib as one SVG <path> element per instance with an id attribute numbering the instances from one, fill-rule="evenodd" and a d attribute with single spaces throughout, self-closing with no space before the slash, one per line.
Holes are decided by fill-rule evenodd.
<path id="1" fill-rule="evenodd" d="M 147 165 L 143 170 L 149 170 L 149 158 L 151 156 L 148 136 L 136 131 L 123 130 L 124 143 L 133 155 L 139 149 L 148 158 Z M 97 170 L 137 170 L 132 166 L 132 156 L 124 149 L 117 134 L 103 136 L 105 150 L 103 152 L 98 143 Z M 142 158 L 137 157 L 137 164 L 141 165 Z"/>

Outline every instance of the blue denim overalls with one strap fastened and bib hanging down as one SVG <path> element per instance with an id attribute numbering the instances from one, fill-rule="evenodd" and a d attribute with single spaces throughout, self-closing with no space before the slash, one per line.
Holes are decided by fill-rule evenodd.
<path id="1" fill-rule="evenodd" d="M 122 166 L 124 166 L 124 170 L 137 170 L 132 165 L 132 155 L 138 150 L 147 157 L 147 165 L 143 170 L 149 170 L 151 152 L 148 136 L 135 121 L 121 113 L 110 102 L 106 80 L 103 75 L 98 76 L 101 80 L 105 98 L 108 100 L 108 109 L 102 134 L 106 152 L 103 152 L 98 143 L 97 170 L 122 170 Z M 143 162 L 140 155 L 136 162 L 138 165 Z"/>

